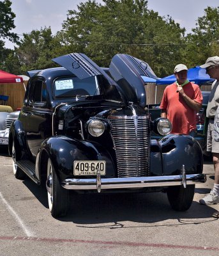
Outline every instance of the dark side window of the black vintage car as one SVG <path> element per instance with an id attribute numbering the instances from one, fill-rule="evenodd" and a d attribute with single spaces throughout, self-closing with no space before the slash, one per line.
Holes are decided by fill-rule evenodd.
<path id="1" fill-rule="evenodd" d="M 47 101 L 46 85 L 42 80 L 34 81 L 31 92 L 31 102 L 33 103 L 45 103 Z"/>

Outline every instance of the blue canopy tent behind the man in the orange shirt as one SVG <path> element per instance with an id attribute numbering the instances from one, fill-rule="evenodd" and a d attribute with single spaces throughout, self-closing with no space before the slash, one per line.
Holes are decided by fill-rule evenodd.
<path id="1" fill-rule="evenodd" d="M 188 69 L 188 80 L 190 82 L 193 82 L 195 84 L 206 84 L 206 83 L 212 83 L 214 79 L 211 79 L 208 74 L 206 74 L 205 68 L 200 68 L 199 66 L 189 68 Z M 173 75 L 163 77 L 156 80 L 156 85 L 159 84 L 172 84 L 176 82 L 176 77 Z M 156 90 L 155 90 L 155 103 L 156 103 Z"/>

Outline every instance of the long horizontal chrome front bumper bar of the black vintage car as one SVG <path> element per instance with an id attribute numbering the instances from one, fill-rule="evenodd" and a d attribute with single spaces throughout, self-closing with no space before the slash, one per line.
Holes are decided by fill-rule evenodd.
<path id="1" fill-rule="evenodd" d="M 186 184 L 196 184 L 206 182 L 206 174 L 187 174 Z M 66 179 L 61 182 L 66 189 L 96 189 L 96 179 Z M 164 186 L 183 185 L 182 175 L 156 176 L 156 177 L 127 177 L 101 179 L 101 189 L 120 188 L 150 188 Z"/>

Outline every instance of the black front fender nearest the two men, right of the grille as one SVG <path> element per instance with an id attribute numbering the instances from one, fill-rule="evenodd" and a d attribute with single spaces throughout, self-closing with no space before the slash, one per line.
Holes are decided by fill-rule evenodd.
<path id="1" fill-rule="evenodd" d="M 177 175 L 185 165 L 186 174 L 202 173 L 203 155 L 199 143 L 189 135 L 169 134 L 160 141 L 163 175 Z"/>

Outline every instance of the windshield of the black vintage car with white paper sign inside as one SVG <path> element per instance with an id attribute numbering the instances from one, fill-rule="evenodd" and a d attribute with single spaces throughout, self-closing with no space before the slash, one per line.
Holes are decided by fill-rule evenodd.
<path id="1" fill-rule="evenodd" d="M 54 81 L 54 95 L 56 98 L 100 95 L 100 90 L 96 77 L 60 77 Z"/>

